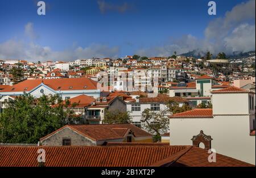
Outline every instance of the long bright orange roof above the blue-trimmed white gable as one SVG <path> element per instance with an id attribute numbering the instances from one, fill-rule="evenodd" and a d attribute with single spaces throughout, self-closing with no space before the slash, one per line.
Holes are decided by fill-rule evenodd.
<path id="1" fill-rule="evenodd" d="M 9 86 L 1 92 L 19 92 L 24 91 L 24 88 L 27 87 L 26 91 L 31 91 L 35 87 L 39 86 L 40 83 L 46 84 L 48 87 L 53 90 L 97 90 L 97 82 L 89 78 L 59 78 L 59 79 L 35 79 L 35 80 L 24 80 Z M 86 86 L 86 88 L 85 88 Z M 70 88 L 72 87 L 72 88 Z"/>

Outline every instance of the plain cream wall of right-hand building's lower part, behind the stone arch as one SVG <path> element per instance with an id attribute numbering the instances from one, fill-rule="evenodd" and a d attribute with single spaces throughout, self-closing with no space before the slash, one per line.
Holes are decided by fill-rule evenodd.
<path id="1" fill-rule="evenodd" d="M 191 138 L 200 130 L 213 138 L 212 149 L 217 153 L 255 164 L 255 136 L 250 136 L 250 116 L 171 118 L 170 143 L 192 145 Z"/>

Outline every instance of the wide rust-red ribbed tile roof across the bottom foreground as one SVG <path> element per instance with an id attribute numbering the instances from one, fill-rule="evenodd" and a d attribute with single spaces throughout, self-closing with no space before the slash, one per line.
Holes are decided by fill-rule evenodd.
<path id="1" fill-rule="evenodd" d="M 254 166 L 193 146 L 0 146 L 1 167 L 38 167 L 38 149 L 46 167 Z"/>

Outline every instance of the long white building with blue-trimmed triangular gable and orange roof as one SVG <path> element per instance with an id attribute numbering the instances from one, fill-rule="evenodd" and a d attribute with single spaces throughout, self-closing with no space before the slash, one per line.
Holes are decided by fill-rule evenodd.
<path id="1" fill-rule="evenodd" d="M 89 78 L 60 78 L 24 80 L 0 91 L 1 96 L 19 96 L 30 94 L 35 98 L 42 95 L 59 95 L 62 99 L 74 98 L 79 95 L 100 97 L 97 82 Z"/>

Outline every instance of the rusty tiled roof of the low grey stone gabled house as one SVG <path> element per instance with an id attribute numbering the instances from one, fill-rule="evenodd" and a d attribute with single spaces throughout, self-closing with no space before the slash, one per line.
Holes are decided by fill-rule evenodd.
<path id="1" fill-rule="evenodd" d="M 138 128 L 133 124 L 93 124 L 93 125 L 65 125 L 63 128 L 55 130 L 51 134 L 46 135 L 46 137 L 40 138 L 43 140 L 49 136 L 59 132 L 64 128 L 70 128 L 76 132 L 84 135 L 85 137 L 91 138 L 95 141 L 102 141 L 107 139 L 121 139 L 123 138 L 124 129 L 130 129 L 135 137 L 150 137 L 151 134 Z M 122 130 L 118 130 L 122 129 Z"/>

